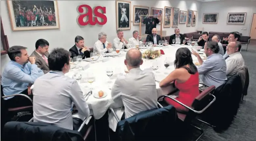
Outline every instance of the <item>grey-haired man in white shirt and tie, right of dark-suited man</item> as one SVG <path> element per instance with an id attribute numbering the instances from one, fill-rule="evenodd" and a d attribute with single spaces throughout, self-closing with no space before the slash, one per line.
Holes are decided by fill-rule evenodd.
<path id="1" fill-rule="evenodd" d="M 100 54 L 104 52 L 112 52 L 112 45 L 106 41 L 107 35 L 104 32 L 99 33 L 99 40 L 94 43 L 94 52 L 98 52 Z"/>

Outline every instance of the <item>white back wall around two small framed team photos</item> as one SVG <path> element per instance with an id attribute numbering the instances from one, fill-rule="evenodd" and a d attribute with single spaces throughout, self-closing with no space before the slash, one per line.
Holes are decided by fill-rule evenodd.
<path id="1" fill-rule="evenodd" d="M 227 24 L 229 12 L 247 12 L 244 25 Z M 219 13 L 217 24 L 203 24 L 204 13 Z M 250 36 L 253 13 L 256 13 L 256 1 L 215 1 L 202 2 L 198 19 L 198 27 L 204 27 L 204 31 L 232 32 L 238 31 L 243 36 Z M 246 29 L 246 30 L 241 30 Z"/>

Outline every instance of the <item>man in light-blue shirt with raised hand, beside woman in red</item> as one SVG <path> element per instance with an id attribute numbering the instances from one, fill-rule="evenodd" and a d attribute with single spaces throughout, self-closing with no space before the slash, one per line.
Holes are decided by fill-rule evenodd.
<path id="1" fill-rule="evenodd" d="M 207 41 L 205 43 L 204 53 L 207 56 L 205 61 L 202 60 L 198 53 L 192 50 L 192 54 L 196 55 L 200 63 L 198 73 L 204 84 L 208 86 L 214 85 L 217 88 L 227 80 L 225 59 L 219 54 L 219 45 L 215 41 Z"/>

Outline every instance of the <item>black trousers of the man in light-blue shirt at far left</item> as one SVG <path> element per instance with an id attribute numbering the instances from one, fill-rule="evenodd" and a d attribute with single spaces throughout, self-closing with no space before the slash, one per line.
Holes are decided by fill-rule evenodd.
<path id="1" fill-rule="evenodd" d="M 33 100 L 33 94 L 29 95 L 27 92 L 27 89 L 21 92 L 21 94 L 25 94 Z M 21 106 L 32 106 L 32 102 L 26 98 L 25 96 L 14 96 L 13 98 L 10 98 L 8 100 L 5 100 L 5 103 L 8 108 L 16 108 Z"/>

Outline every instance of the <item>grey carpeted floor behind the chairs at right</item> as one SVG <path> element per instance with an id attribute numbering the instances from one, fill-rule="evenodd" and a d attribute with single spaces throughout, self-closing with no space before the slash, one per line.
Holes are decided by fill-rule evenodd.
<path id="1" fill-rule="evenodd" d="M 246 45 L 242 49 L 246 49 Z M 242 50 L 241 54 L 250 75 L 248 95 L 241 102 L 229 129 L 216 133 L 211 127 L 201 125 L 204 135 L 199 141 L 256 141 L 256 40 L 251 40 L 248 51 Z"/>

